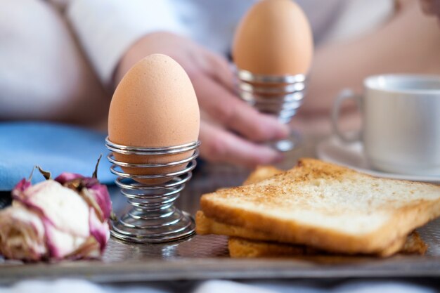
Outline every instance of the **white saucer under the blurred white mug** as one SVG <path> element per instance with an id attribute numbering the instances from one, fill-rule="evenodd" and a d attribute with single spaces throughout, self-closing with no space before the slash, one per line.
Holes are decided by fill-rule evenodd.
<path id="1" fill-rule="evenodd" d="M 338 138 L 332 136 L 319 143 L 316 152 L 318 158 L 323 161 L 349 167 L 371 176 L 440 184 L 440 176 L 392 174 L 372 169 L 363 154 L 361 142 L 342 143 Z"/>

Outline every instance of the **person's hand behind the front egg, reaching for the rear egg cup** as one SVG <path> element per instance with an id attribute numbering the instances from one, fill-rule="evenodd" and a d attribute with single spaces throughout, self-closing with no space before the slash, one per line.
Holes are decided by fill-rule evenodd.
<path id="1" fill-rule="evenodd" d="M 115 72 L 115 84 L 129 68 L 152 53 L 176 60 L 188 73 L 200 105 L 200 156 L 210 162 L 253 167 L 271 164 L 280 153 L 259 143 L 285 138 L 288 127 L 263 115 L 233 93 L 233 73 L 226 59 L 193 41 L 155 32 L 131 46 Z"/>

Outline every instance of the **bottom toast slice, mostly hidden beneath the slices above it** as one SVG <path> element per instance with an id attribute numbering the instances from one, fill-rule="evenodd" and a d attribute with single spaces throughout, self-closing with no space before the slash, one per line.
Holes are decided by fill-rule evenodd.
<path id="1" fill-rule="evenodd" d="M 247 240 L 240 237 L 229 237 L 229 255 L 231 257 L 278 257 L 278 256 L 316 256 L 324 252 L 306 245 L 287 245 L 277 242 Z M 408 235 L 401 254 L 425 254 L 427 245 L 417 232 Z"/>

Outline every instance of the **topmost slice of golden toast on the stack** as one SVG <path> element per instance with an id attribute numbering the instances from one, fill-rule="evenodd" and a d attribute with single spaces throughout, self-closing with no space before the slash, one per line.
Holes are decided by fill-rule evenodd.
<path id="1" fill-rule="evenodd" d="M 329 252 L 382 254 L 440 216 L 440 187 L 375 178 L 317 159 L 252 185 L 203 195 L 202 211 Z"/>

